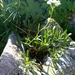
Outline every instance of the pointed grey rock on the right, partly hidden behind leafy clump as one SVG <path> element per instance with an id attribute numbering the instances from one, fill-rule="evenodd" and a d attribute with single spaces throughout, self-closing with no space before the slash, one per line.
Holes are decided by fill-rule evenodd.
<path id="1" fill-rule="evenodd" d="M 47 21 L 52 20 L 51 23 L 49 23 L 49 26 L 56 26 L 56 28 L 60 28 L 61 31 L 62 28 L 59 26 L 59 24 L 57 24 L 53 19 L 48 18 Z M 45 23 L 47 22 L 45 21 Z M 43 27 L 44 25 L 42 25 Z M 57 66 L 58 68 L 55 69 L 53 68 L 53 64 L 52 64 L 52 60 L 50 57 L 45 58 L 44 59 L 44 64 L 43 64 L 43 72 L 45 72 L 46 74 L 48 74 L 48 67 L 49 68 L 53 68 L 52 70 L 50 69 L 50 73 L 53 71 L 54 74 L 57 75 L 75 75 L 75 42 L 72 41 L 71 38 L 69 38 L 70 40 L 70 46 L 67 48 L 66 52 L 65 52 L 65 56 L 62 56 L 59 58 L 59 61 L 57 62 Z M 48 64 L 50 65 L 48 65 Z M 50 75 L 54 75 L 53 72 Z M 44 74 L 44 75 L 46 75 Z"/>

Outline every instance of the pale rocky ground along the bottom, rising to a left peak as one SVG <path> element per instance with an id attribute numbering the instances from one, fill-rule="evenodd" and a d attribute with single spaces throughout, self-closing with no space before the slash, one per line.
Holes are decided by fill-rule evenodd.
<path id="1" fill-rule="evenodd" d="M 65 56 L 60 57 L 57 69 L 50 57 L 44 58 L 42 65 L 35 62 L 24 64 L 19 52 L 22 50 L 16 44 L 15 34 L 11 33 L 0 57 L 0 75 L 75 75 L 75 41 L 71 40 Z"/>

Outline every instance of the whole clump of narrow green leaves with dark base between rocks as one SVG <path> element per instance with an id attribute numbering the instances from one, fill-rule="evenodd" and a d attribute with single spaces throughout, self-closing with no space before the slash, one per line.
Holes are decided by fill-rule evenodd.
<path id="1" fill-rule="evenodd" d="M 54 67 L 57 68 L 56 64 L 70 42 L 70 34 L 67 34 L 67 30 L 63 31 L 53 19 L 49 19 L 42 28 L 39 24 L 37 30 L 36 36 L 27 36 L 23 42 L 25 46 L 23 67 L 27 73 L 30 71 L 33 74 L 36 72 L 31 69 L 32 65 L 42 71 L 42 60 L 45 57 L 51 57 Z"/>

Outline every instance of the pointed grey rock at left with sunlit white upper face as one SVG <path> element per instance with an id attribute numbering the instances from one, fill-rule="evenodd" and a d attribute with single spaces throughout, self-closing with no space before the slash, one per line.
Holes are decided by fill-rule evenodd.
<path id="1" fill-rule="evenodd" d="M 18 56 L 20 49 L 16 45 L 16 36 L 12 32 L 0 57 L 0 75 L 24 75 L 18 67 L 21 59 Z"/>

